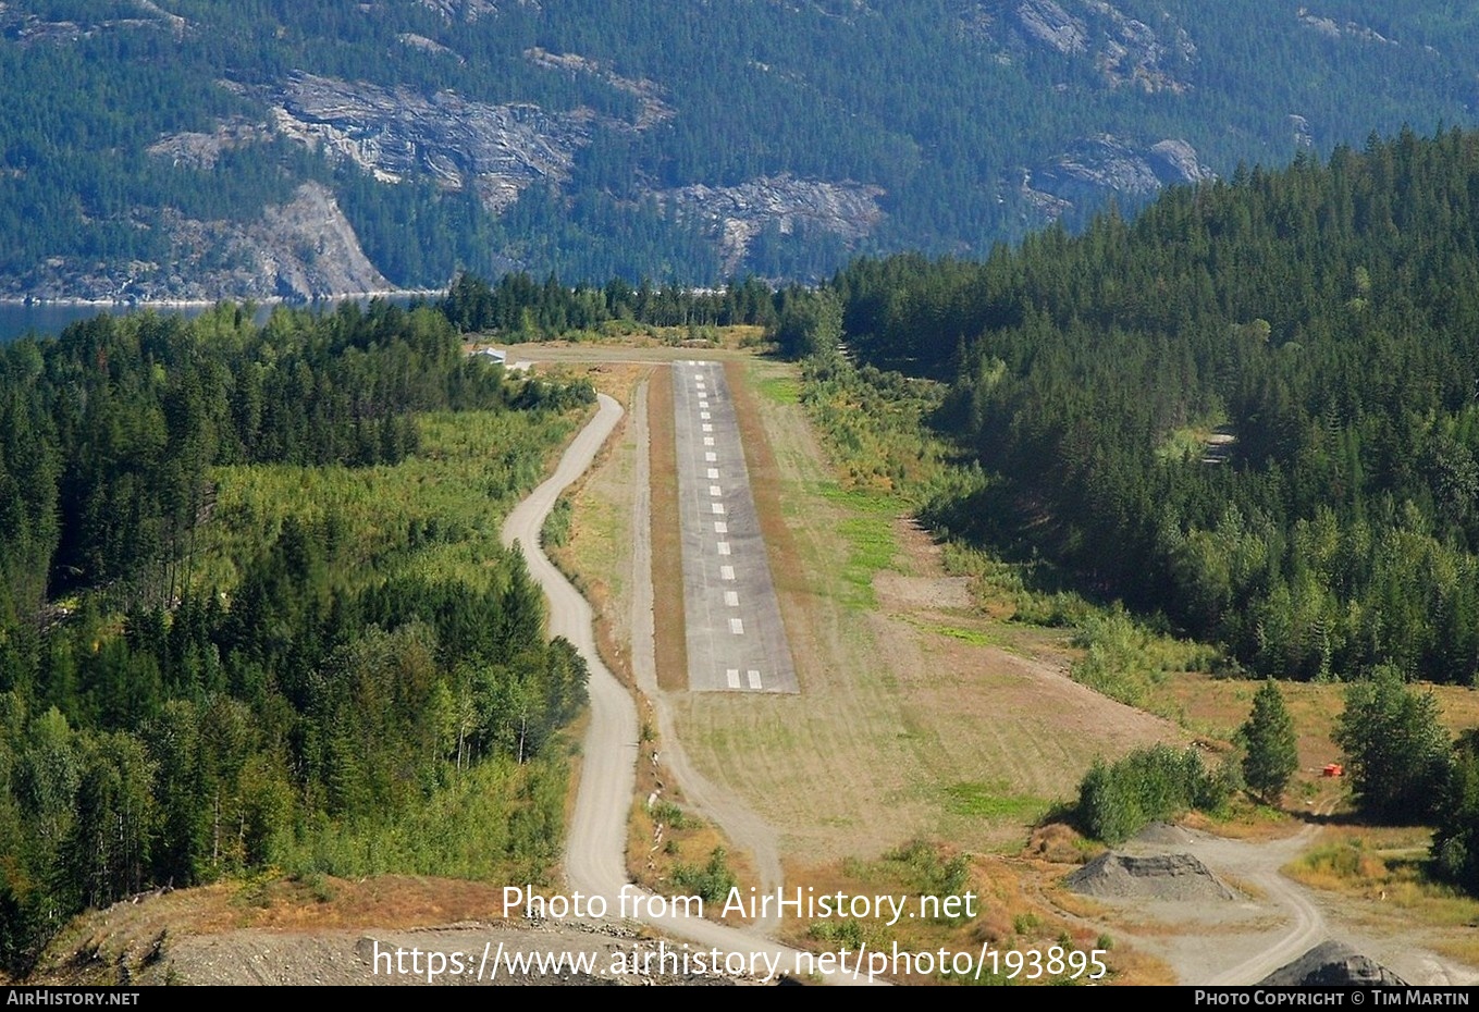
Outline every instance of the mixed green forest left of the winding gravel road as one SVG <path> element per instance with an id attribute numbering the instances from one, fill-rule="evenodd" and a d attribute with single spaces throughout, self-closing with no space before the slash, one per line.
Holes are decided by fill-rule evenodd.
<path id="1" fill-rule="evenodd" d="M 586 669 L 495 531 L 592 399 L 385 303 L 0 349 L 0 960 L 266 867 L 537 877 Z"/>

